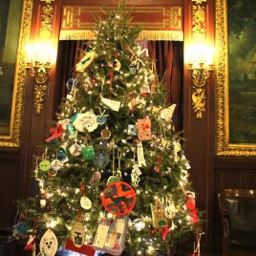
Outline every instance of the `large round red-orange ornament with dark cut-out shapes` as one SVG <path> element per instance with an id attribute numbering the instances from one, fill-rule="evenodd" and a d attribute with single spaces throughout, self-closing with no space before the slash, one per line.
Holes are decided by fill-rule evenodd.
<path id="1" fill-rule="evenodd" d="M 104 189 L 101 201 L 106 211 L 117 216 L 123 216 L 134 208 L 136 193 L 130 184 L 124 181 L 115 181 Z"/>

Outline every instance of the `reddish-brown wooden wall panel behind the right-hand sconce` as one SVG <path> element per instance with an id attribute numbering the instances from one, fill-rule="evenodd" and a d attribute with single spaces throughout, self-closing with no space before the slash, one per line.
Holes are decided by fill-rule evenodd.
<path id="1" fill-rule="evenodd" d="M 192 2 L 184 1 L 184 51 L 192 41 Z M 214 1 L 205 3 L 205 41 L 214 45 Z M 215 89 L 214 77 L 206 81 L 206 112 L 202 119 L 197 119 L 192 110 L 192 86 L 187 72 L 187 63 L 184 63 L 184 103 L 183 123 L 185 154 L 191 162 L 190 180 L 197 193 L 197 206 L 205 211 L 203 231 L 203 249 L 210 251 L 213 244 L 213 189 L 214 189 L 214 134 L 215 134 Z"/>

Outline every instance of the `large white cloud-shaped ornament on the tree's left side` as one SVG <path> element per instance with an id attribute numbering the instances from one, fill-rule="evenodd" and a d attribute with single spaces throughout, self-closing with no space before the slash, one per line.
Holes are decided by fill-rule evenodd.
<path id="1" fill-rule="evenodd" d="M 76 117 L 73 125 L 75 130 L 79 132 L 85 132 L 85 130 L 87 130 L 89 133 L 94 132 L 98 125 L 94 111 L 91 110 L 84 114 L 80 114 L 78 117 Z"/>

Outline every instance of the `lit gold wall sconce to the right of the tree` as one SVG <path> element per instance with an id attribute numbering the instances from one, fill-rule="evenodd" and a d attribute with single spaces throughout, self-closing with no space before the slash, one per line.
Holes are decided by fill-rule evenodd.
<path id="1" fill-rule="evenodd" d="M 203 112 L 206 111 L 204 86 L 206 80 L 214 73 L 214 65 L 211 62 L 213 51 L 205 46 L 194 45 L 189 48 L 188 54 L 189 61 L 187 71 L 192 79 L 192 86 L 194 89 L 194 92 L 192 93 L 192 106 L 196 113 L 196 117 L 202 119 Z"/>

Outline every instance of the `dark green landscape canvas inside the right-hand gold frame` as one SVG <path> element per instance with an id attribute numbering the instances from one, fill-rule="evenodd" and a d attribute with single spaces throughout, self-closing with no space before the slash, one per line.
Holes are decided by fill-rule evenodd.
<path id="1" fill-rule="evenodd" d="M 256 1 L 227 0 L 229 143 L 256 143 Z"/>

